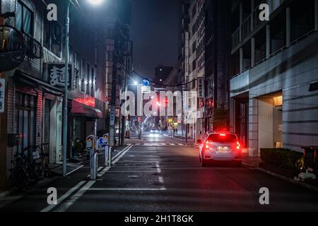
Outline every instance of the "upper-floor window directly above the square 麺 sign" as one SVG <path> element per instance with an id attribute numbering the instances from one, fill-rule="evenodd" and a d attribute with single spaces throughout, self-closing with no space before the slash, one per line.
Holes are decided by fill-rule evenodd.
<path id="1" fill-rule="evenodd" d="M 45 20 L 44 27 L 44 46 L 58 57 L 61 57 L 61 26 L 57 21 Z"/>

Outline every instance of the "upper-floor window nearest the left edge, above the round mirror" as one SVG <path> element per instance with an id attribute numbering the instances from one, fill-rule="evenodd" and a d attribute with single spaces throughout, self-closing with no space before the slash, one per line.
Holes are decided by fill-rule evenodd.
<path id="1" fill-rule="evenodd" d="M 20 1 L 16 6 L 16 28 L 33 36 L 33 12 Z"/>

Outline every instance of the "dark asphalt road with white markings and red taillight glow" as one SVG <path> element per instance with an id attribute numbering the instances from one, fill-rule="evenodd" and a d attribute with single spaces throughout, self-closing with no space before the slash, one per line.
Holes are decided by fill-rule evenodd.
<path id="1" fill-rule="evenodd" d="M 206 167 L 197 148 L 162 134 L 144 134 L 100 169 L 96 182 L 83 167 L 66 179 L 18 198 L 0 211 L 317 211 L 318 194 L 245 167 Z M 47 188 L 59 203 L 47 204 Z M 259 189 L 269 189 L 269 205 Z M 1 200 L 0 200 L 1 203 Z M 1 205 L 1 204 L 0 204 Z"/>

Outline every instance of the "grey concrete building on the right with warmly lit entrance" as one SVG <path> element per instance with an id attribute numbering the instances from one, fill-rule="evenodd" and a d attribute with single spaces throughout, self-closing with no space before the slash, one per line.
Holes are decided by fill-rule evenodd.
<path id="1" fill-rule="evenodd" d="M 318 145 L 318 1 L 232 1 L 231 20 L 232 131 L 251 156 Z"/>

